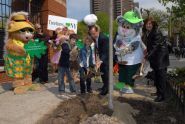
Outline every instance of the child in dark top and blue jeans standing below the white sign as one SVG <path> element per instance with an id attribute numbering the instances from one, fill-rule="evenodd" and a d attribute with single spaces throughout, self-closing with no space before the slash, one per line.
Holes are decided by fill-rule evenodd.
<path id="1" fill-rule="evenodd" d="M 66 30 L 66 29 L 65 29 Z M 69 81 L 69 88 L 70 91 L 76 92 L 76 87 L 74 80 L 72 78 L 69 66 L 69 58 L 70 58 L 70 45 L 68 43 L 68 38 L 67 34 L 64 34 L 61 36 L 61 55 L 59 59 L 59 67 L 58 67 L 58 83 L 59 83 L 59 92 L 64 93 L 65 92 L 65 84 L 64 84 L 64 75 L 66 74 L 68 81 Z"/>

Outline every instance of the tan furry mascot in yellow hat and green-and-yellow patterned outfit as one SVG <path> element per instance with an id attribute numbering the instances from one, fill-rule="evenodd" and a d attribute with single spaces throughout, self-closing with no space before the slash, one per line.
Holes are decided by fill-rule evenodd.
<path id="1" fill-rule="evenodd" d="M 34 36 L 34 26 L 28 20 L 28 13 L 12 13 L 7 21 L 5 39 L 5 71 L 9 77 L 14 78 L 15 93 L 22 93 L 31 86 L 32 60 L 24 45 Z"/>

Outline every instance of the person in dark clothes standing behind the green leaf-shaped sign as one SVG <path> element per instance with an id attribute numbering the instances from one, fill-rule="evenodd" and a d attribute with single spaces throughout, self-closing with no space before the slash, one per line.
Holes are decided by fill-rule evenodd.
<path id="1" fill-rule="evenodd" d="M 47 46 L 47 37 L 42 33 L 42 28 L 40 24 L 35 24 L 36 33 L 34 39 L 39 39 L 39 41 L 44 41 Z M 39 78 L 40 83 L 48 82 L 48 49 L 41 58 L 34 58 L 35 68 L 32 73 L 32 81 Z"/>

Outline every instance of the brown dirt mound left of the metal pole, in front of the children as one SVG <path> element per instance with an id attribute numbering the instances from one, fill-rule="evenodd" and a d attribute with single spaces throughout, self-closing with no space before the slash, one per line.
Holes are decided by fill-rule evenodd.
<path id="1" fill-rule="evenodd" d="M 105 98 L 97 95 L 77 96 L 61 102 L 51 114 L 45 115 L 38 124 L 79 124 L 95 114 L 111 115 Z"/>

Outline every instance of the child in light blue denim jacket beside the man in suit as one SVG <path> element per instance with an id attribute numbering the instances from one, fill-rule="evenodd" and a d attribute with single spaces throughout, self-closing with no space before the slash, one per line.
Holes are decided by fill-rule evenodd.
<path id="1" fill-rule="evenodd" d="M 92 93 L 91 89 L 91 77 L 90 77 L 90 67 L 93 67 L 93 56 L 91 43 L 93 40 L 90 36 L 84 38 L 84 47 L 80 50 L 80 90 L 81 94 L 86 93 L 86 88 L 88 93 Z M 85 84 L 86 81 L 86 84 Z"/>

